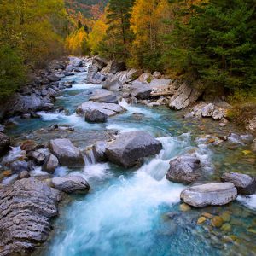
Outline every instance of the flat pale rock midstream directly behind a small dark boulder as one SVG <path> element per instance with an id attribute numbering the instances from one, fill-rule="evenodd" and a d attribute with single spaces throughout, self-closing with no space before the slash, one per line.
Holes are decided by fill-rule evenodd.
<path id="1" fill-rule="evenodd" d="M 84 102 L 77 108 L 77 113 L 86 113 L 87 111 L 99 110 L 108 115 L 108 117 L 118 113 L 124 113 L 125 108 L 113 103 Z"/>

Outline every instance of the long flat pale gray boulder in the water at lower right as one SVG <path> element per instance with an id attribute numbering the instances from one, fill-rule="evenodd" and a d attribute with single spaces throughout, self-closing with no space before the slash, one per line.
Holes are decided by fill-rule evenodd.
<path id="1" fill-rule="evenodd" d="M 237 197 L 233 183 L 207 183 L 184 189 L 181 199 L 192 207 L 223 206 Z"/>

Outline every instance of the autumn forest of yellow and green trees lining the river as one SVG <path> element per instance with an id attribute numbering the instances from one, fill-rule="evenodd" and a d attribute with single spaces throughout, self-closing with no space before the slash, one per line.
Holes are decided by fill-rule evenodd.
<path id="1" fill-rule="evenodd" d="M 1 1 L 1 97 L 63 55 L 102 55 L 193 86 L 255 98 L 252 0 Z M 10 36 L 11 35 L 11 36 Z"/>

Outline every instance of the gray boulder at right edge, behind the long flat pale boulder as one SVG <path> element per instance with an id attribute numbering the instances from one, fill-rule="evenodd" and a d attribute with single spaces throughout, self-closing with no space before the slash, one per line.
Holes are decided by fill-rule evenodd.
<path id="1" fill-rule="evenodd" d="M 239 172 L 225 172 L 221 177 L 221 180 L 233 183 L 239 194 L 253 195 L 256 192 L 256 180 L 247 174 Z"/>

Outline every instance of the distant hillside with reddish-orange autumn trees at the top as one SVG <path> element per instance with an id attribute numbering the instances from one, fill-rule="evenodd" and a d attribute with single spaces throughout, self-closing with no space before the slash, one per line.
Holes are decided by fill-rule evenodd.
<path id="1" fill-rule="evenodd" d="M 108 0 L 65 0 L 65 3 L 69 13 L 81 12 L 87 18 L 97 18 L 103 12 Z"/>

